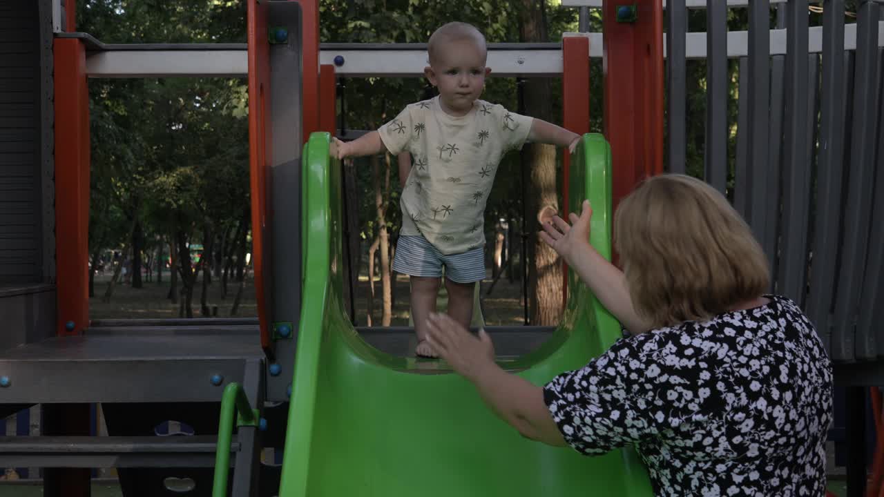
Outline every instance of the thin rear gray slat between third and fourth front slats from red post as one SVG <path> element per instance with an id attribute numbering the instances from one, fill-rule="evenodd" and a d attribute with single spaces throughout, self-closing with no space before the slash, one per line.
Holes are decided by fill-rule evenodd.
<path id="1" fill-rule="evenodd" d="M 771 278 L 776 285 L 777 268 L 777 231 L 780 227 L 781 198 L 780 182 L 782 177 L 782 120 L 786 113 L 783 99 L 786 71 L 786 57 L 771 57 L 771 100 L 770 100 L 770 147 L 767 153 L 767 198 L 762 208 L 766 212 L 765 231 L 760 235 L 762 248 L 768 255 L 771 264 Z"/>

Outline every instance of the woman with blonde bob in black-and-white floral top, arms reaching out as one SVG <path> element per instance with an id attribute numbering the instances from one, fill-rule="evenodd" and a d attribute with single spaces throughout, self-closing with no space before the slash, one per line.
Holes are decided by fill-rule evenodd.
<path id="1" fill-rule="evenodd" d="M 433 348 L 523 436 L 600 455 L 632 444 L 657 495 L 823 495 L 832 368 L 795 303 L 765 295 L 766 258 L 700 180 L 645 180 L 617 210 L 623 271 L 589 244 L 591 210 L 540 233 L 630 331 L 544 387 L 494 363 L 446 316 Z"/>

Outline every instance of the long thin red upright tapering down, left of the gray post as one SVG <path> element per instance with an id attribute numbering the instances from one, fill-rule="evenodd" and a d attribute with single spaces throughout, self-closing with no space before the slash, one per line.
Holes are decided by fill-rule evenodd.
<path id="1" fill-rule="evenodd" d="M 270 348 L 268 324 L 270 295 L 264 294 L 264 248 L 271 225 L 267 195 L 267 172 L 271 157 L 271 113 L 267 107 L 271 91 L 270 42 L 267 40 L 268 4 L 248 0 L 248 147 L 252 203 L 252 264 L 255 271 L 255 300 L 261 328 L 261 346 Z"/>

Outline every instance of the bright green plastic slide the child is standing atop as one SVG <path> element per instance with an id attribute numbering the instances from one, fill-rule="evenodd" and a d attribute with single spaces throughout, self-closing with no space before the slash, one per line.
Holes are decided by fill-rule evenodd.
<path id="1" fill-rule="evenodd" d="M 523 439 L 445 363 L 360 338 L 341 297 L 341 179 L 329 140 L 313 134 L 304 148 L 304 300 L 279 496 L 652 495 L 631 449 L 586 457 Z M 587 134 L 573 158 L 570 208 L 591 200 L 591 242 L 610 256 L 610 149 Z M 573 275 L 570 288 L 552 339 L 501 365 L 541 385 L 616 340 L 620 326 Z"/>

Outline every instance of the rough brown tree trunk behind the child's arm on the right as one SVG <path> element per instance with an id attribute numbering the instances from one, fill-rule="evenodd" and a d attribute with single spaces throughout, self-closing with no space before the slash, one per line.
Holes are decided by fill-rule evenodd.
<path id="1" fill-rule="evenodd" d="M 546 42 L 545 0 L 520 1 L 523 7 L 519 23 L 520 41 Z M 521 90 L 524 112 L 529 116 L 552 121 L 550 80 L 525 80 Z M 529 144 L 522 149 L 522 164 L 530 170 L 530 195 L 525 199 L 528 203 L 528 215 L 524 222 L 527 232 L 531 233 L 527 245 L 532 325 L 557 325 L 561 319 L 562 276 L 559 256 L 537 237 L 540 229 L 537 216 L 541 210 L 559 211 L 555 157 L 556 149 L 552 145 Z"/>

